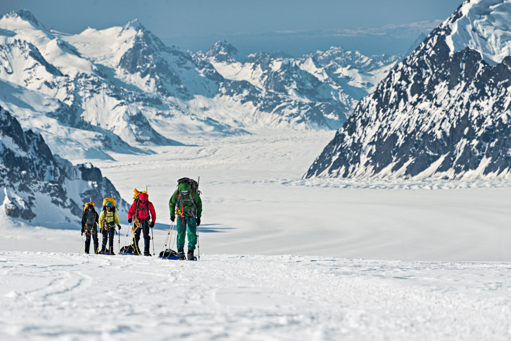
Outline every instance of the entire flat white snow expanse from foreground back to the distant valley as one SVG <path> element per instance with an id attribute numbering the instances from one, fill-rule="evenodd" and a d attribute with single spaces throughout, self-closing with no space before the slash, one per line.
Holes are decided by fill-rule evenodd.
<path id="1" fill-rule="evenodd" d="M 128 201 L 149 186 L 157 254 L 176 180 L 200 176 L 200 260 L 77 254 L 79 226 L 0 225 L 0 339 L 511 338 L 505 181 L 300 179 L 333 133 L 92 160 Z"/>

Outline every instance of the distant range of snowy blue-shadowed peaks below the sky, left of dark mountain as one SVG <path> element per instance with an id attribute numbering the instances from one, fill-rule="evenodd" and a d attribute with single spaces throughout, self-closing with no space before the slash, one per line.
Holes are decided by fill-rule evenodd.
<path id="1" fill-rule="evenodd" d="M 176 134 L 338 129 L 400 56 L 333 47 L 293 59 L 166 46 L 140 22 L 67 35 L 26 10 L 0 18 L 0 104 L 66 158 L 178 145 Z M 42 103 L 46 103 L 43 105 Z M 37 120 L 51 122 L 41 129 Z"/>

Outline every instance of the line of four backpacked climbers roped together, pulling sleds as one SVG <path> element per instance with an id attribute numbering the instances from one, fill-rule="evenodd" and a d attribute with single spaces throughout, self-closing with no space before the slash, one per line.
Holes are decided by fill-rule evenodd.
<path id="1" fill-rule="evenodd" d="M 159 258 L 163 259 L 179 259 L 179 260 L 197 260 L 194 255 L 195 248 L 198 248 L 198 229 L 200 225 L 200 217 L 202 215 L 202 201 L 200 199 L 199 183 L 189 178 L 181 178 L 177 181 L 177 188 L 172 193 L 169 200 L 170 210 L 170 228 L 167 231 L 167 238 Z M 129 230 L 126 234 L 124 247 L 121 248 L 121 224 L 115 206 L 115 199 L 104 198 L 103 209 L 98 215 L 95 204 L 90 201 L 83 205 L 82 229 L 83 244 L 85 242 L 85 253 L 90 251 L 90 239 L 94 240 L 94 253 L 103 255 L 115 255 L 113 250 L 113 242 L 115 234 L 119 234 L 119 254 L 120 255 L 144 255 L 151 256 L 150 244 L 153 240 L 154 253 L 154 236 L 153 227 L 156 223 L 156 212 L 153 204 L 149 201 L 147 189 L 138 191 L 133 189 L 133 204 L 128 210 Z M 112 196 L 113 197 L 113 196 Z M 103 236 L 101 250 L 99 248 L 98 227 Z M 115 229 L 117 227 L 119 231 Z M 174 229 L 177 233 L 174 235 Z M 187 232 L 188 230 L 188 232 Z M 149 234 L 149 231 L 151 234 Z M 132 236 L 130 245 L 126 246 L 128 237 Z M 144 236 L 144 251 L 140 249 L 140 235 Z M 172 250 L 176 241 L 177 252 Z M 187 255 L 184 254 L 185 237 L 188 238 Z M 171 245 L 172 242 L 172 245 Z M 107 247 L 108 243 L 108 247 Z"/>

